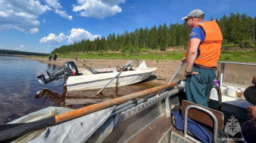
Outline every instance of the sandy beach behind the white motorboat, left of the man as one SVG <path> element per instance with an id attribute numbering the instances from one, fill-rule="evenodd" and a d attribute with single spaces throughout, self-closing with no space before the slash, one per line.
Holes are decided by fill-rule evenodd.
<path id="1" fill-rule="evenodd" d="M 75 59 L 66 59 L 66 58 L 58 58 L 56 61 L 48 61 L 47 58 L 43 58 L 40 56 L 29 56 L 23 57 L 24 59 L 33 59 L 37 60 L 42 63 L 51 63 L 55 65 L 62 66 L 65 62 L 73 61 L 75 62 L 77 68 L 83 68 L 83 65 L 80 62 L 89 65 L 92 68 L 95 67 L 106 67 L 106 66 L 114 66 L 114 65 L 124 65 L 128 59 L 78 59 L 80 62 L 77 62 Z M 139 63 L 142 62 L 142 59 L 139 59 Z M 131 59 L 132 65 L 136 65 L 136 60 Z M 155 75 L 155 79 L 152 82 L 156 82 L 158 84 L 167 84 L 170 79 L 173 77 L 174 73 L 176 72 L 177 68 L 180 67 L 181 61 L 177 60 L 150 60 L 146 59 L 145 63 L 148 67 L 157 67 L 158 70 L 154 71 L 152 75 Z M 186 65 L 183 66 L 185 68 Z M 178 79 L 183 79 L 183 68 L 180 70 L 179 74 L 177 75 Z M 44 71 L 42 71 L 44 72 Z"/>

